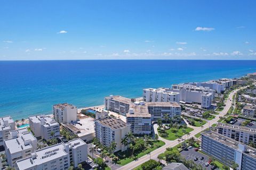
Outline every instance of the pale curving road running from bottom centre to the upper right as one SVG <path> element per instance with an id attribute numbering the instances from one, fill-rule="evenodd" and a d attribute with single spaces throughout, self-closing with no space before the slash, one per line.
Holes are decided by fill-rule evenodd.
<path id="1" fill-rule="evenodd" d="M 246 87 L 244 87 L 244 88 L 246 88 Z M 243 88 L 240 88 L 240 89 L 243 89 Z M 223 111 L 218 112 L 219 115 L 215 115 L 215 118 L 213 118 L 213 120 L 207 122 L 207 124 L 205 124 L 203 126 L 203 128 L 188 125 L 189 127 L 194 129 L 194 131 L 190 132 L 189 138 L 194 137 L 197 133 L 209 128 L 211 125 L 218 123 L 218 120 L 220 119 L 220 117 L 223 117 L 228 112 L 229 108 L 231 107 L 233 95 L 236 94 L 236 92 L 240 89 L 234 90 L 233 92 L 231 92 L 229 94 L 228 100 L 226 102 L 226 106 L 223 108 Z M 163 140 L 163 138 L 161 138 L 160 140 Z M 166 141 L 166 140 L 163 140 L 163 141 L 165 142 L 165 145 L 162 146 L 161 148 L 158 148 L 158 149 L 150 152 L 150 156 L 149 155 L 142 156 L 141 158 L 134 160 L 133 162 L 118 168 L 118 170 L 133 169 L 133 168 L 139 166 L 140 164 L 147 162 L 150 157 L 151 157 L 151 159 L 157 160 L 157 156 L 159 154 L 162 154 L 166 150 L 166 148 L 174 147 L 179 144 L 178 139 L 173 140 L 173 141 Z"/>

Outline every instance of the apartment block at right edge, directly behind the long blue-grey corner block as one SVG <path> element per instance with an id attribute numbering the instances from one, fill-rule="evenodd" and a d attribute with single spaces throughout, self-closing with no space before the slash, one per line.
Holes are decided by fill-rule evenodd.
<path id="1" fill-rule="evenodd" d="M 218 123 L 217 132 L 225 135 L 225 137 L 245 143 L 246 145 L 248 145 L 250 142 L 256 144 L 256 129 L 253 128 L 226 123 Z"/>

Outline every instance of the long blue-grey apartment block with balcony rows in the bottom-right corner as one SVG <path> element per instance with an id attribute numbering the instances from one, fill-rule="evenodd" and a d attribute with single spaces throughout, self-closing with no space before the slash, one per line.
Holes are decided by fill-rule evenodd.
<path id="1" fill-rule="evenodd" d="M 256 149 L 230 139 L 217 132 L 206 131 L 202 134 L 202 151 L 218 161 L 231 166 L 236 163 L 237 169 L 255 169 Z"/>

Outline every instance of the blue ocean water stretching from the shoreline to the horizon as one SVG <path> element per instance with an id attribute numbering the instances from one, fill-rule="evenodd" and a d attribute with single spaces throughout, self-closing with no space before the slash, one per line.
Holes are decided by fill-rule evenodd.
<path id="1" fill-rule="evenodd" d="M 256 61 L 0 61 L 0 116 L 49 114 L 52 105 L 102 105 L 109 95 L 142 96 L 143 88 L 242 77 Z"/>

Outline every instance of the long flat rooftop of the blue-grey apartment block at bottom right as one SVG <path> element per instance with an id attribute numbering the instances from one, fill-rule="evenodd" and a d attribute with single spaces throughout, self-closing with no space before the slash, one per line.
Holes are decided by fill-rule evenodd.
<path id="1" fill-rule="evenodd" d="M 236 150 L 239 150 L 238 144 L 241 144 L 242 146 L 246 146 L 246 152 L 243 152 L 243 154 L 249 155 L 250 157 L 253 157 L 254 159 L 256 159 L 256 149 L 255 148 L 249 147 L 249 146 L 245 145 L 244 143 L 241 143 L 234 139 L 225 137 L 224 135 L 221 135 L 214 131 L 206 131 L 201 134 L 213 139 L 214 141 L 220 142 L 223 145 L 226 145 L 226 146 L 236 149 Z"/>

